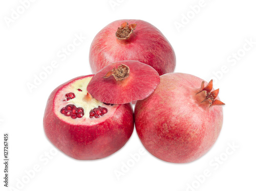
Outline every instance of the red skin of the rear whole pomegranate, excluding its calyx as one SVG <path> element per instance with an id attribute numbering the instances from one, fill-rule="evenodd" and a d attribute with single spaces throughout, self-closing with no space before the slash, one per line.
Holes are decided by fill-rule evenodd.
<path id="1" fill-rule="evenodd" d="M 115 36 L 123 22 L 137 23 L 136 29 L 127 40 Z M 156 69 L 159 75 L 172 73 L 176 57 L 172 45 L 153 25 L 143 20 L 116 20 L 104 27 L 93 39 L 89 61 L 93 73 L 113 62 L 137 60 Z"/>

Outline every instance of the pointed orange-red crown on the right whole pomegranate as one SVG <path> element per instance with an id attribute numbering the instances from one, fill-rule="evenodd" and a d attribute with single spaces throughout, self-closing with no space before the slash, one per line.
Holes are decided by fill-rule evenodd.
<path id="1" fill-rule="evenodd" d="M 197 94 L 201 93 L 201 92 L 204 93 L 205 99 L 202 102 L 206 102 L 207 101 L 207 102 L 209 102 L 210 106 L 225 105 L 220 100 L 216 100 L 216 98 L 217 98 L 217 96 L 219 94 L 219 90 L 220 89 L 216 89 L 214 91 L 211 91 L 212 86 L 213 86 L 212 80 L 205 87 L 204 87 L 204 81 L 202 81 L 200 90 L 197 92 Z"/>

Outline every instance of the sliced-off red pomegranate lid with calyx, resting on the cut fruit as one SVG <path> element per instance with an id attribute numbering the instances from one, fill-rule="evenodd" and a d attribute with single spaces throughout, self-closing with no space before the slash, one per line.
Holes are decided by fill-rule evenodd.
<path id="1" fill-rule="evenodd" d="M 119 61 L 101 69 L 87 90 L 101 102 L 125 104 L 147 98 L 159 83 L 153 67 L 134 60 Z"/>

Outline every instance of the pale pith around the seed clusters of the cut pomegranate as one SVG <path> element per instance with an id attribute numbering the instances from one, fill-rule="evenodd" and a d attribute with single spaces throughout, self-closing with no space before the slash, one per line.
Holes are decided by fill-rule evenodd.
<path id="1" fill-rule="evenodd" d="M 86 77 L 75 80 L 67 84 L 65 87 L 63 87 L 60 91 L 57 92 L 56 97 L 54 99 L 54 112 L 61 120 L 74 125 L 95 125 L 105 121 L 106 118 L 111 117 L 115 113 L 116 109 L 118 108 L 118 105 L 105 105 L 94 98 L 89 99 L 89 101 L 85 99 L 88 93 L 87 86 L 91 79 L 92 77 Z M 78 91 L 78 89 L 81 89 L 82 91 Z M 75 98 L 69 101 L 63 101 L 67 99 L 65 95 L 69 92 L 73 92 L 75 94 Z M 68 104 L 73 104 L 76 107 L 82 107 L 84 110 L 84 115 L 81 118 L 77 117 L 73 119 L 70 116 L 66 116 L 60 113 L 60 110 L 63 107 L 66 107 Z M 100 116 L 99 118 L 90 118 L 90 110 L 92 110 L 93 108 L 97 108 L 98 106 L 108 109 L 108 112 Z"/>

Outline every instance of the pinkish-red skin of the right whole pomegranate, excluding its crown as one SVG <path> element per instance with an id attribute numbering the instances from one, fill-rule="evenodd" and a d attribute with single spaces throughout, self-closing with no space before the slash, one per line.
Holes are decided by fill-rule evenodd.
<path id="1" fill-rule="evenodd" d="M 202 81 L 188 74 L 165 74 L 150 97 L 137 101 L 136 131 L 151 154 L 164 161 L 186 163 L 214 145 L 222 128 L 223 110 L 222 106 L 201 103 L 200 93 L 196 93 Z"/>

